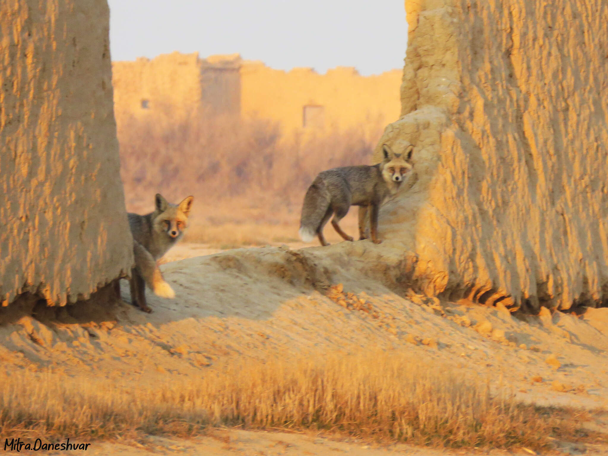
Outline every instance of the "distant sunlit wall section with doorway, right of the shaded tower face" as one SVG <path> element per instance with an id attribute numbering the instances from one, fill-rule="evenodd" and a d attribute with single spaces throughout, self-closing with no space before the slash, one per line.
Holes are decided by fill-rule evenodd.
<path id="1" fill-rule="evenodd" d="M 241 113 L 274 120 L 286 134 L 310 130 L 304 119 L 308 106 L 322 109 L 322 117 L 313 125 L 320 134 L 378 128 L 399 116 L 400 80 L 398 70 L 361 76 L 354 68 L 336 67 L 322 75 L 311 68 L 282 71 L 261 62 L 244 62 Z"/>

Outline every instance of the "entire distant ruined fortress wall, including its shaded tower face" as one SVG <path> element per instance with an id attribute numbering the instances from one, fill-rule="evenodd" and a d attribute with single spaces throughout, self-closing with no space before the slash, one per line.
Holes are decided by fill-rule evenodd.
<path id="1" fill-rule="evenodd" d="M 178 52 L 114 62 L 112 69 L 119 128 L 131 118 L 162 126 L 228 115 L 270 120 L 286 136 L 351 128 L 376 134 L 401 109 L 399 70 L 366 77 L 337 67 L 323 75 L 310 68 L 275 70 L 238 54 L 203 59 Z"/>

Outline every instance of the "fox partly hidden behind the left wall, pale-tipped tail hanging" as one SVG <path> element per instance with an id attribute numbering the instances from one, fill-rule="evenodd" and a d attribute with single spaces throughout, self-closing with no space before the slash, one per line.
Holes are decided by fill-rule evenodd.
<path id="1" fill-rule="evenodd" d="M 152 311 L 146 303 L 145 285 L 157 296 L 170 299 L 175 297 L 173 288 L 162 277 L 157 260 L 184 235 L 193 199 L 193 196 L 187 196 L 179 204 L 171 204 L 160 193 L 156 193 L 154 212 L 146 215 L 127 214 L 135 257 L 135 268 L 131 270 L 129 282 L 131 302 L 144 312 Z M 120 296 L 120 289 L 118 291 Z"/>

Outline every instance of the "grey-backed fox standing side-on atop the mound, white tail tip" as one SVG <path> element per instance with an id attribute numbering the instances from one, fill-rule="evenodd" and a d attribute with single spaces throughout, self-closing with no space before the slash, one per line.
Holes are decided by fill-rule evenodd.
<path id="1" fill-rule="evenodd" d="M 365 237 L 365 216 L 370 210 L 371 240 L 378 239 L 378 210 L 384 199 L 394 195 L 405 176 L 412 170 L 413 145 L 401 154 L 394 153 L 389 145 L 382 145 L 382 162 L 368 166 L 346 166 L 322 171 L 314 179 L 302 206 L 300 218 L 300 238 L 310 242 L 317 235 L 322 246 L 329 243 L 323 237 L 323 226 L 334 218 L 331 224 L 346 241 L 353 238 L 347 235 L 338 222 L 347 215 L 351 206 L 359 206 L 359 240 Z"/>

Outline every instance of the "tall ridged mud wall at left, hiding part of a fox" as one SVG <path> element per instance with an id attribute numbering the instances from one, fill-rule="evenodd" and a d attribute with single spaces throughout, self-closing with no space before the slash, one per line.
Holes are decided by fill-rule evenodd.
<path id="1" fill-rule="evenodd" d="M 0 3 L 0 302 L 130 271 L 105 0 Z"/>

